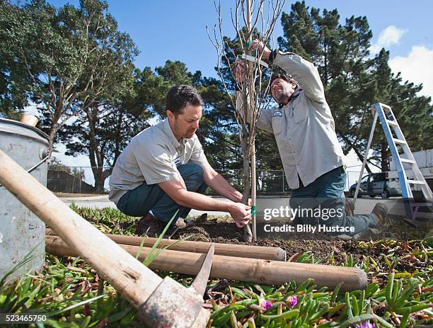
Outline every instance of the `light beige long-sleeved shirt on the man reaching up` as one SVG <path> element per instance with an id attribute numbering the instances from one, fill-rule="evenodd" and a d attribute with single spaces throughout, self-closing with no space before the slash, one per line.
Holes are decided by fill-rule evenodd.
<path id="1" fill-rule="evenodd" d="M 345 155 L 335 134 L 335 123 L 317 68 L 293 53 L 278 52 L 273 64 L 284 69 L 302 91 L 283 108 L 262 110 L 258 128 L 272 132 L 277 141 L 287 183 L 291 189 L 304 186 L 345 164 Z M 238 108 L 241 97 L 238 97 Z M 259 154 L 260 156 L 260 154 Z"/>

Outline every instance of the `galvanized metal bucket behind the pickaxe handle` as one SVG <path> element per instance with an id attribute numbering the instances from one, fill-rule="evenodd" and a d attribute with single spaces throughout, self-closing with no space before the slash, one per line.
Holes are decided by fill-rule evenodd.
<path id="1" fill-rule="evenodd" d="M 16 120 L 0 118 L 0 149 L 47 185 L 48 136 Z M 40 271 L 45 261 L 45 223 L 0 186 L 0 280 L 12 281 L 25 273 Z"/>

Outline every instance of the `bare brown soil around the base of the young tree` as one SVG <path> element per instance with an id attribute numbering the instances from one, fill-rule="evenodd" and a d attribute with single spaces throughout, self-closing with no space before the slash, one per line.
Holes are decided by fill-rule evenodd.
<path id="1" fill-rule="evenodd" d="M 330 258 L 333 264 L 341 264 L 352 255 L 354 261 L 362 261 L 366 256 L 371 256 L 376 261 L 383 258 L 383 255 L 393 251 L 400 256 L 398 268 L 403 271 L 413 271 L 418 266 L 413 259 L 408 258 L 408 253 L 413 247 L 420 247 L 417 242 L 411 242 L 408 246 L 408 240 L 413 236 L 405 236 L 413 227 L 405 222 L 399 222 L 398 225 L 387 225 L 379 227 L 380 230 L 386 230 L 386 233 L 379 233 L 379 237 L 392 237 L 393 239 L 381 239 L 379 242 L 363 241 L 354 242 L 352 240 L 342 240 L 337 237 L 329 237 L 318 234 L 296 234 L 294 239 L 258 239 L 246 243 L 242 242 L 242 233 L 233 220 L 228 217 L 208 218 L 207 220 L 196 220 L 195 225 L 178 230 L 173 234 L 173 239 L 179 239 L 190 236 L 188 240 L 200 242 L 218 242 L 226 244 L 250 244 L 256 246 L 280 247 L 287 252 L 287 261 L 296 261 L 306 251 L 311 251 L 311 256 L 315 260 L 322 260 L 323 264 L 329 263 Z M 415 230 L 415 232 L 420 232 Z M 312 239 L 314 237 L 314 239 Z M 377 238 L 376 238 L 377 239 Z M 421 244 L 421 243 L 420 243 Z M 409 251 L 409 252 L 408 252 Z M 424 266 L 423 264 L 419 264 Z M 420 267 L 418 267 L 420 268 Z"/>

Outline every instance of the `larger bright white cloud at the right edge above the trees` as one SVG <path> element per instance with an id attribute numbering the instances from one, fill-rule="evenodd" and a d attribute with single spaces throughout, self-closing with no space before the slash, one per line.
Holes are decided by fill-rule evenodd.
<path id="1" fill-rule="evenodd" d="M 403 81 L 415 84 L 422 83 L 420 95 L 433 98 L 433 50 L 424 45 L 415 45 L 410 50 L 408 57 L 393 57 L 389 60 L 389 66 L 394 73 L 401 72 Z"/>

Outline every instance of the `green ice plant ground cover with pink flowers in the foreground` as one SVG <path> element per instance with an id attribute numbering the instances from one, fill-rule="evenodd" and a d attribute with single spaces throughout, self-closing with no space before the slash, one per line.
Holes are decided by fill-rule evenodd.
<path id="1" fill-rule="evenodd" d="M 134 234 L 137 219 L 117 210 L 74 205 L 72 208 L 105 233 Z M 271 246 L 272 242 L 267 244 Z M 328 256 L 311 244 L 310 250 L 301 253 L 287 247 L 289 244 L 278 246 L 287 251 L 291 261 L 361 268 L 369 278 L 368 288 L 342 293 L 339 286 L 334 290 L 317 288 L 311 280 L 299 285 L 209 280 L 205 295 L 212 311 L 209 327 L 371 328 L 433 324 L 432 242 L 342 242 L 331 247 L 335 252 L 330 251 Z M 344 249 L 348 252 L 337 253 Z M 316 252 L 321 256 L 316 256 Z M 158 274 L 169 274 L 184 285 L 190 285 L 193 278 L 177 273 Z M 67 256 L 47 255 L 40 274 L 25 276 L 12 285 L 0 283 L 0 310 L 46 313 L 49 319 L 45 327 L 141 327 L 134 307 L 85 261 Z"/>

